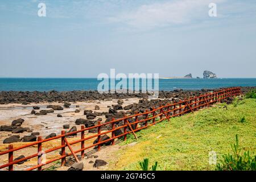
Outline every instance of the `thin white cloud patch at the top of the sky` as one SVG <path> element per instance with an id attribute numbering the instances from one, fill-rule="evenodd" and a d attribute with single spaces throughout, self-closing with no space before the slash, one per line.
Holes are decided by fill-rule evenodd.
<path id="1" fill-rule="evenodd" d="M 208 16 L 209 3 L 221 3 L 225 0 L 179 0 L 142 5 L 109 18 L 110 22 L 125 23 L 134 28 L 154 28 L 172 24 L 189 23 L 192 20 Z"/>

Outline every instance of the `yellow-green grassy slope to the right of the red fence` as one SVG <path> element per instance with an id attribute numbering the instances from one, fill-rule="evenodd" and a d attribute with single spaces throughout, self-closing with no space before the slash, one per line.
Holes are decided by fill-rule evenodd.
<path id="1" fill-rule="evenodd" d="M 230 152 L 230 143 L 238 134 L 242 150 L 255 154 L 256 100 L 236 100 L 235 105 L 218 104 L 194 114 L 171 118 L 127 136 L 124 150 L 118 151 L 113 170 L 140 170 L 139 162 L 148 158 L 149 166 L 158 162 L 158 170 L 214 170 L 209 152 L 217 153 L 217 162 Z M 240 122 L 245 117 L 246 122 Z M 134 144 L 136 142 L 136 144 Z M 133 144 L 131 144 L 133 143 Z"/>

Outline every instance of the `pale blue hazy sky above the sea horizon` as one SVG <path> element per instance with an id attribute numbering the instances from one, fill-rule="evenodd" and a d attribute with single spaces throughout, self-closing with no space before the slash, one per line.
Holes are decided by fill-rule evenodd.
<path id="1" fill-rule="evenodd" d="M 256 1 L 1 0 L 0 77 L 97 77 L 111 68 L 255 78 Z"/>

